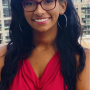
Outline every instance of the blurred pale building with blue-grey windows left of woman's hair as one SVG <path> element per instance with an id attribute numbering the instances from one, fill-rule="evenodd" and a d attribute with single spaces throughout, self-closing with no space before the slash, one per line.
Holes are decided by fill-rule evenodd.
<path id="1" fill-rule="evenodd" d="M 0 0 L 0 44 L 9 41 L 10 0 Z"/>

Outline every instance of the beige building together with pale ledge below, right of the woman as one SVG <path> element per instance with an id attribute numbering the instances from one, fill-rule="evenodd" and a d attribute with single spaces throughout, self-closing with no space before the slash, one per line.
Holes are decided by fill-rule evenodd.
<path id="1" fill-rule="evenodd" d="M 90 49 L 90 0 L 73 0 L 73 2 L 83 29 L 83 37 L 81 41 L 79 38 L 79 41 L 83 47 Z"/>

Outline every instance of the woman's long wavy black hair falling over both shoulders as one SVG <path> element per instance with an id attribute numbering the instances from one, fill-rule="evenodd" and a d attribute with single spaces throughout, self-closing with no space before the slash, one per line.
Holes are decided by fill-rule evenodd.
<path id="1" fill-rule="evenodd" d="M 63 1 L 63 0 L 62 0 Z M 64 87 L 68 90 L 76 90 L 76 74 L 84 69 L 85 52 L 78 43 L 78 38 L 82 35 L 82 29 L 77 12 L 71 0 L 67 1 L 65 15 L 67 16 L 67 27 L 62 30 L 58 27 L 56 45 L 61 56 L 61 72 L 64 78 Z M 32 28 L 27 23 L 20 0 L 11 0 L 12 19 L 10 24 L 10 39 L 5 54 L 4 66 L 1 71 L 0 90 L 8 90 L 15 77 L 18 63 L 26 59 L 34 49 Z M 64 19 L 59 16 L 58 22 L 62 26 Z M 65 23 L 65 22 L 64 22 Z M 20 31 L 19 25 L 22 30 Z M 76 68 L 75 53 L 79 55 L 79 66 Z M 22 65 L 22 64 L 21 64 Z M 65 87 L 66 90 L 66 87 Z"/>

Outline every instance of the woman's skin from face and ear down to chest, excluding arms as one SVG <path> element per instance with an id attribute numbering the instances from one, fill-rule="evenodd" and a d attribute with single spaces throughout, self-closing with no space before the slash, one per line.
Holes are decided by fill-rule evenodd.
<path id="1" fill-rule="evenodd" d="M 38 5 L 34 12 L 24 11 L 27 22 L 33 28 L 33 41 L 36 45 L 36 48 L 32 51 L 32 54 L 28 59 L 38 78 L 41 78 L 46 65 L 57 51 L 55 46 L 55 38 L 57 36 L 57 19 L 60 14 L 65 12 L 66 5 L 66 2 L 60 4 L 57 1 L 56 7 L 50 11 L 45 11 L 40 5 Z M 49 18 L 46 24 L 40 25 L 33 21 L 33 19 L 42 17 Z"/>

